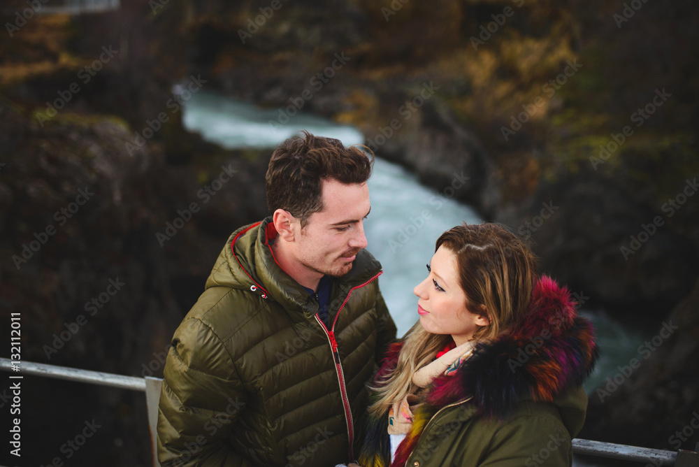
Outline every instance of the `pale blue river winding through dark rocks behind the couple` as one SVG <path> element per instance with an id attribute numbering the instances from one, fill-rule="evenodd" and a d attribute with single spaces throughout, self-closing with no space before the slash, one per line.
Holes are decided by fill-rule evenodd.
<path id="1" fill-rule="evenodd" d="M 302 129 L 312 134 L 338 138 L 345 145 L 362 144 L 364 137 L 353 127 L 338 125 L 321 117 L 298 114 L 286 125 L 276 122 L 278 109 L 261 109 L 217 94 L 192 94 L 185 107 L 184 123 L 190 131 L 229 149 L 274 148 Z M 455 183 L 458 183 L 455 175 Z M 417 177 L 396 164 L 377 158 L 369 179 L 371 213 L 365 222 L 368 250 L 381 261 L 384 274 L 380 285 L 398 335 L 415 324 L 417 299 L 412 294 L 426 275 L 434 243 L 443 231 L 466 221 L 482 222 L 473 208 L 449 197 L 452 190 L 437 192 L 421 185 Z M 456 186 L 456 185 L 454 185 Z M 595 389 L 617 373 L 617 366 L 628 365 L 639 357 L 637 347 L 650 336 L 621 324 L 603 310 L 580 312 L 595 325 L 602 357 L 585 389 L 593 397 Z"/>

